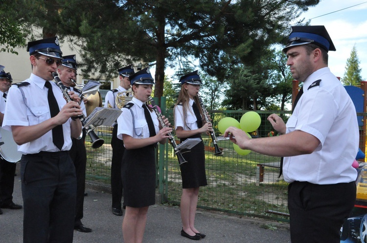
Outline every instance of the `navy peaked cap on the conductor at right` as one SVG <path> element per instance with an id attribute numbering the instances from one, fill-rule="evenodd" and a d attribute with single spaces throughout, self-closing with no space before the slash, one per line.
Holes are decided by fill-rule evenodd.
<path id="1" fill-rule="evenodd" d="M 323 25 L 314 26 L 292 26 L 292 33 L 289 35 L 287 45 L 283 52 L 291 46 L 316 44 L 326 51 L 336 51 L 333 41 Z"/>

